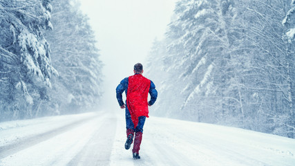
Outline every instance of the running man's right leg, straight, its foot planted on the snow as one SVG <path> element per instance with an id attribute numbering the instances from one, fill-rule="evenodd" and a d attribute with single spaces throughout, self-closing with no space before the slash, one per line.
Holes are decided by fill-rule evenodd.
<path id="1" fill-rule="evenodd" d="M 135 138 L 134 138 L 134 145 L 133 145 L 133 159 L 140 159 L 139 151 L 140 151 L 140 145 L 142 143 L 142 132 L 144 131 L 144 122 L 146 120 L 145 116 L 140 116 L 138 118 L 139 122 L 137 124 L 137 127 L 135 128 Z"/>

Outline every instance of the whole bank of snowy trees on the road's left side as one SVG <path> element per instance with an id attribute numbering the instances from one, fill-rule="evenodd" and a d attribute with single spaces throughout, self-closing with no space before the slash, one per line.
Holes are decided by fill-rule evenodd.
<path id="1" fill-rule="evenodd" d="M 97 106 L 103 65 L 77 1 L 0 1 L 0 28 L 0 121 Z"/>

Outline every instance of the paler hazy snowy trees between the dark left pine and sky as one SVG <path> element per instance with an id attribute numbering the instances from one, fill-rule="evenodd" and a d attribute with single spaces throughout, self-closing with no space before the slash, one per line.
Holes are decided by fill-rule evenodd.
<path id="1" fill-rule="evenodd" d="M 103 65 L 94 32 L 78 1 L 53 1 L 52 5 L 55 30 L 46 33 L 46 38 L 59 77 L 53 80 L 52 100 L 43 107 L 51 113 L 89 111 L 102 95 Z"/>

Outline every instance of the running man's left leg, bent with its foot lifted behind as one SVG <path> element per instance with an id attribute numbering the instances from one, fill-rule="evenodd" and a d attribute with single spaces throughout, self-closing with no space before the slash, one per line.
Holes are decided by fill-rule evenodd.
<path id="1" fill-rule="evenodd" d="M 131 115 L 129 113 L 128 108 L 125 110 L 125 118 L 126 118 L 126 134 L 127 140 L 125 142 L 125 149 L 128 150 L 131 147 L 134 138 L 134 124 L 131 120 Z"/>

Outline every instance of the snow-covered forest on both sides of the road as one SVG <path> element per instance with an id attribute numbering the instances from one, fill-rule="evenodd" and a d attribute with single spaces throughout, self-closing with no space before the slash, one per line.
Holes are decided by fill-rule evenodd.
<path id="1" fill-rule="evenodd" d="M 0 28 L 0 122 L 97 107 L 104 64 L 78 0 L 1 0 Z M 146 57 L 151 115 L 295 138 L 294 35 L 295 0 L 178 1 Z"/>

